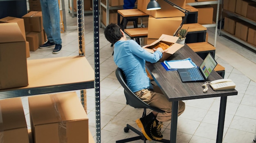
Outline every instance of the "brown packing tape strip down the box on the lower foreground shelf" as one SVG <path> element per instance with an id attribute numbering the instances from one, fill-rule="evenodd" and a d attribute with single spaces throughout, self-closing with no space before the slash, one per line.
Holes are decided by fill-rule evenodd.
<path id="1" fill-rule="evenodd" d="M 61 115 L 63 114 L 60 102 L 58 100 L 57 94 L 52 95 L 52 102 L 54 103 L 54 108 L 55 108 L 55 115 L 58 119 L 58 137 L 60 143 L 67 143 L 67 124 L 66 121 L 63 121 L 63 118 Z"/>

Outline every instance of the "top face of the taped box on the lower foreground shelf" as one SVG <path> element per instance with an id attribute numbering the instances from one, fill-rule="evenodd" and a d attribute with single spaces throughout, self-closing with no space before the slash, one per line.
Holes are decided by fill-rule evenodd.
<path id="1" fill-rule="evenodd" d="M 76 92 L 31 96 L 28 99 L 34 126 L 88 119 Z"/>

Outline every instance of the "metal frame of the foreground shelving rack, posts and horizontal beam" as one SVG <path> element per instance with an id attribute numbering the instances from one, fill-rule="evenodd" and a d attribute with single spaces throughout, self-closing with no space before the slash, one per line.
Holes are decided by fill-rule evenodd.
<path id="1" fill-rule="evenodd" d="M 64 5 L 64 2 L 63 2 L 63 5 Z M 99 1 L 98 0 L 93 0 L 93 18 L 94 18 L 93 27 L 94 27 L 94 74 L 95 74 L 94 81 L 70 83 L 70 84 L 63 84 L 58 86 L 4 90 L 4 91 L 0 91 L 0 99 L 94 88 L 95 103 L 96 103 L 95 104 L 96 139 L 97 139 L 97 143 L 100 143 L 101 142 L 101 126 L 100 126 L 101 118 L 100 118 Z M 83 0 L 77 0 L 77 28 L 78 28 L 78 41 L 79 41 L 79 55 L 85 56 Z M 84 106 L 84 101 L 82 100 L 84 100 L 84 98 L 85 98 L 84 92 L 83 90 L 81 90 L 81 102 L 83 106 Z"/>

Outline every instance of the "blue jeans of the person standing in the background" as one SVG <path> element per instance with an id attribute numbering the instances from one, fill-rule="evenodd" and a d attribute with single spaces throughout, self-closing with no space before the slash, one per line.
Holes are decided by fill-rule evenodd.
<path id="1" fill-rule="evenodd" d="M 61 44 L 60 10 L 57 0 L 40 0 L 43 27 L 48 41 Z"/>

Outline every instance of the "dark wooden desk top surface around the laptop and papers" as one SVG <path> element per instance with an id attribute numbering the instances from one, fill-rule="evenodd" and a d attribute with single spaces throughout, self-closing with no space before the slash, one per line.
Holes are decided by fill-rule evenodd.
<path id="1" fill-rule="evenodd" d="M 193 52 L 186 44 L 166 60 L 180 60 L 189 57 L 196 65 L 200 65 L 203 61 L 202 58 Z M 169 101 L 220 97 L 237 95 L 238 93 L 235 89 L 213 91 L 211 87 L 204 93 L 204 88 L 202 87 L 204 82 L 182 82 L 177 71 L 166 71 L 161 65 L 161 62 L 146 63 L 146 68 Z M 222 79 L 222 77 L 216 71 L 213 71 L 207 81 L 217 79 Z"/>

